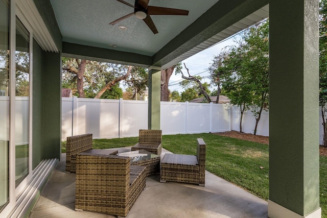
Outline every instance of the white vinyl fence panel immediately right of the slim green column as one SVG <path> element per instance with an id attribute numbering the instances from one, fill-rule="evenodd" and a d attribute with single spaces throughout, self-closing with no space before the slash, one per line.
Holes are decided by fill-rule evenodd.
<path id="1" fill-rule="evenodd" d="M 185 102 L 161 102 L 160 128 L 162 134 L 185 134 L 186 132 Z"/>

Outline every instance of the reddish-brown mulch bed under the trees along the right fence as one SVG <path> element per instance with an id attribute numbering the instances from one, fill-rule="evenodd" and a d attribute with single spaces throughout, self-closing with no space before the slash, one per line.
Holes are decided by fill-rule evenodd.
<path id="1" fill-rule="evenodd" d="M 250 133 L 243 133 L 237 131 L 217 132 L 213 134 L 223 135 L 231 138 L 238 138 L 247 141 L 254 141 L 262 144 L 269 144 L 269 136 L 253 135 Z M 319 153 L 320 155 L 327 156 L 327 148 L 323 146 L 319 146 Z"/>

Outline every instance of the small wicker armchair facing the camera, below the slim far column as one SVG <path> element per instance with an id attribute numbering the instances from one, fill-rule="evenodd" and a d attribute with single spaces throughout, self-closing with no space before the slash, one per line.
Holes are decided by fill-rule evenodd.
<path id="1" fill-rule="evenodd" d="M 132 147 L 132 151 L 146 150 L 161 155 L 161 140 L 161 130 L 139 130 L 138 143 Z"/>

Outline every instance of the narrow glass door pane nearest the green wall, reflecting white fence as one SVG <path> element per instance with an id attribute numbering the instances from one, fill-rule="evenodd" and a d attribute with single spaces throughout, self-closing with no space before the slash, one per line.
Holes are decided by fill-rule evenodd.
<path id="1" fill-rule="evenodd" d="M 29 35 L 16 18 L 16 187 L 29 174 Z"/>

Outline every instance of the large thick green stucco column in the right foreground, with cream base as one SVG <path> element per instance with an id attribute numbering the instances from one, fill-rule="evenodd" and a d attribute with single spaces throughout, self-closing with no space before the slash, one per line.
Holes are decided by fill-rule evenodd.
<path id="1" fill-rule="evenodd" d="M 318 0 L 270 1 L 268 216 L 321 217 Z"/>

